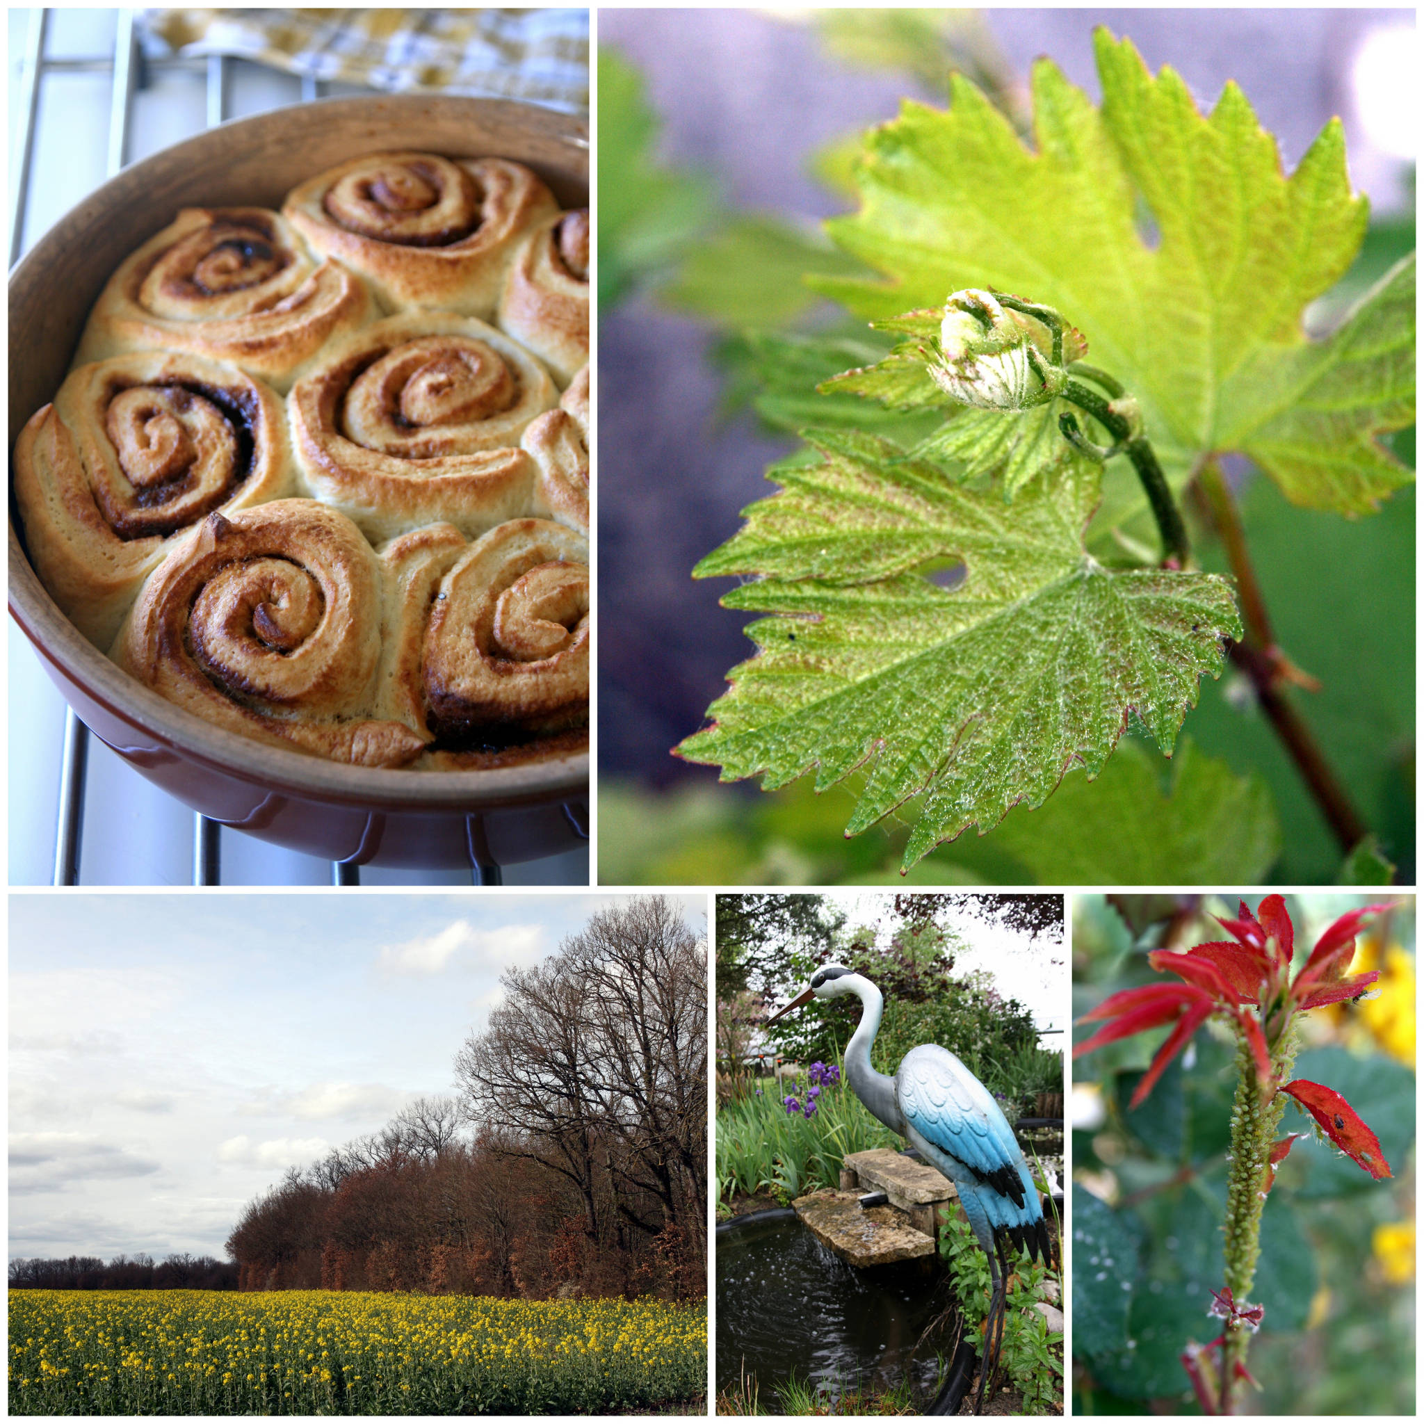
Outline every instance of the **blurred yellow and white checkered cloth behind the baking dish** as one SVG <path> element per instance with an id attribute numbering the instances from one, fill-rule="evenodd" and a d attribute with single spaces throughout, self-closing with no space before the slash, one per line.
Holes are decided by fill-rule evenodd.
<path id="1" fill-rule="evenodd" d="M 588 112 L 587 10 L 148 10 L 154 53 Z"/>

